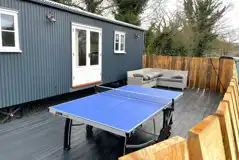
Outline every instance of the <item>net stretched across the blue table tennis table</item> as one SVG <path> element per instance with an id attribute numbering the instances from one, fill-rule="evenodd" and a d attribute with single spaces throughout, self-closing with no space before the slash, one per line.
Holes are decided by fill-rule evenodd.
<path id="1" fill-rule="evenodd" d="M 118 89 L 118 88 L 97 86 L 96 91 L 102 92 L 103 94 L 110 94 L 110 95 L 120 96 L 123 98 L 129 98 L 129 99 L 134 99 L 138 101 L 146 101 L 151 103 L 159 103 L 164 105 L 170 104 L 172 102 L 172 99 L 163 97 L 163 95 L 162 96 L 148 95 L 148 94 L 137 93 L 133 91 L 126 91 L 126 90 Z"/>

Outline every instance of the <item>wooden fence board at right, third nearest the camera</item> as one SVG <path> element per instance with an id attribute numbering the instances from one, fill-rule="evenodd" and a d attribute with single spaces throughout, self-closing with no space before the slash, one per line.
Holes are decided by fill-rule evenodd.
<path id="1" fill-rule="evenodd" d="M 216 111 L 217 117 L 219 118 L 224 150 L 227 160 L 237 160 L 238 159 L 238 149 L 236 146 L 236 139 L 233 134 L 232 122 L 230 118 L 228 103 L 222 101 Z"/>

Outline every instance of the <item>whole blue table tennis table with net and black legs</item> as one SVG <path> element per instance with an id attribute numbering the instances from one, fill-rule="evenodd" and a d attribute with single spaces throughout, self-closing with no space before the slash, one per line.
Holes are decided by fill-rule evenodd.
<path id="1" fill-rule="evenodd" d="M 174 102 L 183 95 L 182 92 L 133 85 L 115 89 L 103 86 L 96 88 L 103 92 L 49 108 L 52 114 L 66 118 L 64 150 L 70 149 L 72 126 L 82 124 L 86 124 L 87 135 L 92 135 L 92 128 L 95 127 L 123 137 L 123 154 L 126 148 L 143 148 L 170 136 Z M 154 136 L 151 141 L 143 144 L 127 144 L 127 139 L 150 119 L 153 120 L 156 135 L 154 117 L 161 111 L 163 127 L 159 136 Z M 82 123 L 73 124 L 73 120 Z"/>

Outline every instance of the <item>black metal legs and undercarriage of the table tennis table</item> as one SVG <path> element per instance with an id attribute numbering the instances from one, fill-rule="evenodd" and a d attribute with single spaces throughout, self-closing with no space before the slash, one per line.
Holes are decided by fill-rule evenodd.
<path id="1" fill-rule="evenodd" d="M 123 147 L 123 155 L 125 155 L 127 148 L 144 148 L 149 145 L 152 145 L 157 142 L 164 141 L 168 139 L 171 135 L 171 126 L 173 124 L 173 111 L 174 111 L 174 104 L 175 100 L 172 99 L 171 106 L 168 106 L 167 108 L 163 109 L 163 128 L 160 131 L 160 134 L 158 137 L 155 137 L 155 139 L 148 141 L 143 144 L 139 145 L 127 145 L 127 140 L 130 138 L 130 134 L 126 133 L 124 138 L 124 147 Z M 154 124 L 154 135 L 156 135 L 156 127 L 155 127 L 155 120 L 153 118 L 153 124 Z M 80 126 L 83 124 L 72 124 L 72 120 L 69 118 L 66 118 L 65 121 L 65 133 L 64 133 L 64 150 L 70 150 L 71 147 L 71 127 L 72 126 Z M 87 131 L 87 137 L 91 137 L 93 135 L 92 126 L 86 125 L 86 131 Z"/>

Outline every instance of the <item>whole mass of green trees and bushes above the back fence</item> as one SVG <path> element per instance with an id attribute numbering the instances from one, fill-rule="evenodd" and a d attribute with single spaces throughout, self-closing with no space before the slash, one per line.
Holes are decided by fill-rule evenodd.
<path id="1" fill-rule="evenodd" d="M 227 8 L 222 0 L 184 0 L 183 14 L 159 20 L 146 32 L 146 52 L 170 56 L 208 55 L 216 47 L 215 26 Z"/>

